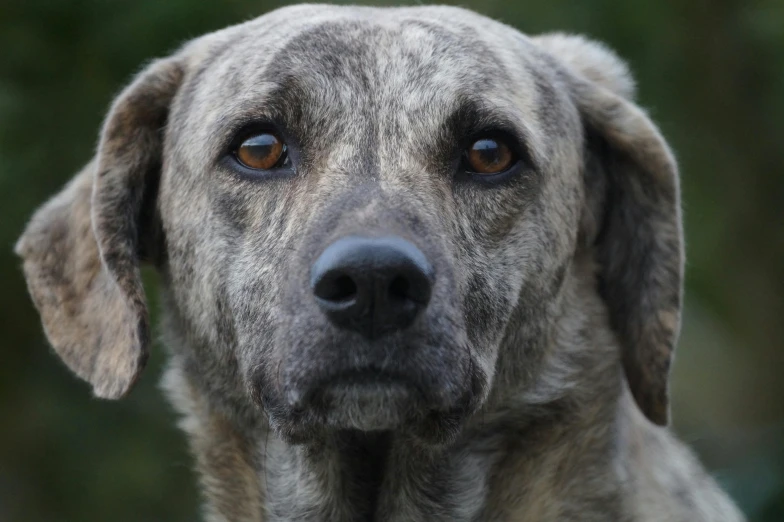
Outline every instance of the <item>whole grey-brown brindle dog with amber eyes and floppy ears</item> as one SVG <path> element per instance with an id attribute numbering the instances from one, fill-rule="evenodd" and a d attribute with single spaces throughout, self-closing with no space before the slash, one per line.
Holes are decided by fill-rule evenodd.
<path id="1" fill-rule="evenodd" d="M 150 63 L 16 252 L 106 399 L 160 274 L 211 522 L 743 520 L 666 428 L 678 183 L 597 42 L 299 5 Z"/>

